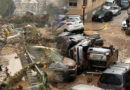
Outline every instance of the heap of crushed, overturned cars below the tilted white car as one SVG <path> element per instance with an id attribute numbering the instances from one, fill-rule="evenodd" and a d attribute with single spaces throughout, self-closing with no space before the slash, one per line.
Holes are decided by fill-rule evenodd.
<path id="1" fill-rule="evenodd" d="M 77 17 L 71 16 L 67 19 L 69 18 L 73 20 Z M 118 50 L 111 45 L 103 47 L 103 40 L 99 34 L 87 35 L 82 29 L 80 31 L 77 28 L 60 33 L 57 37 L 57 48 L 64 56 L 76 62 L 79 72 L 92 70 L 93 67 L 107 68 L 118 60 Z"/>

